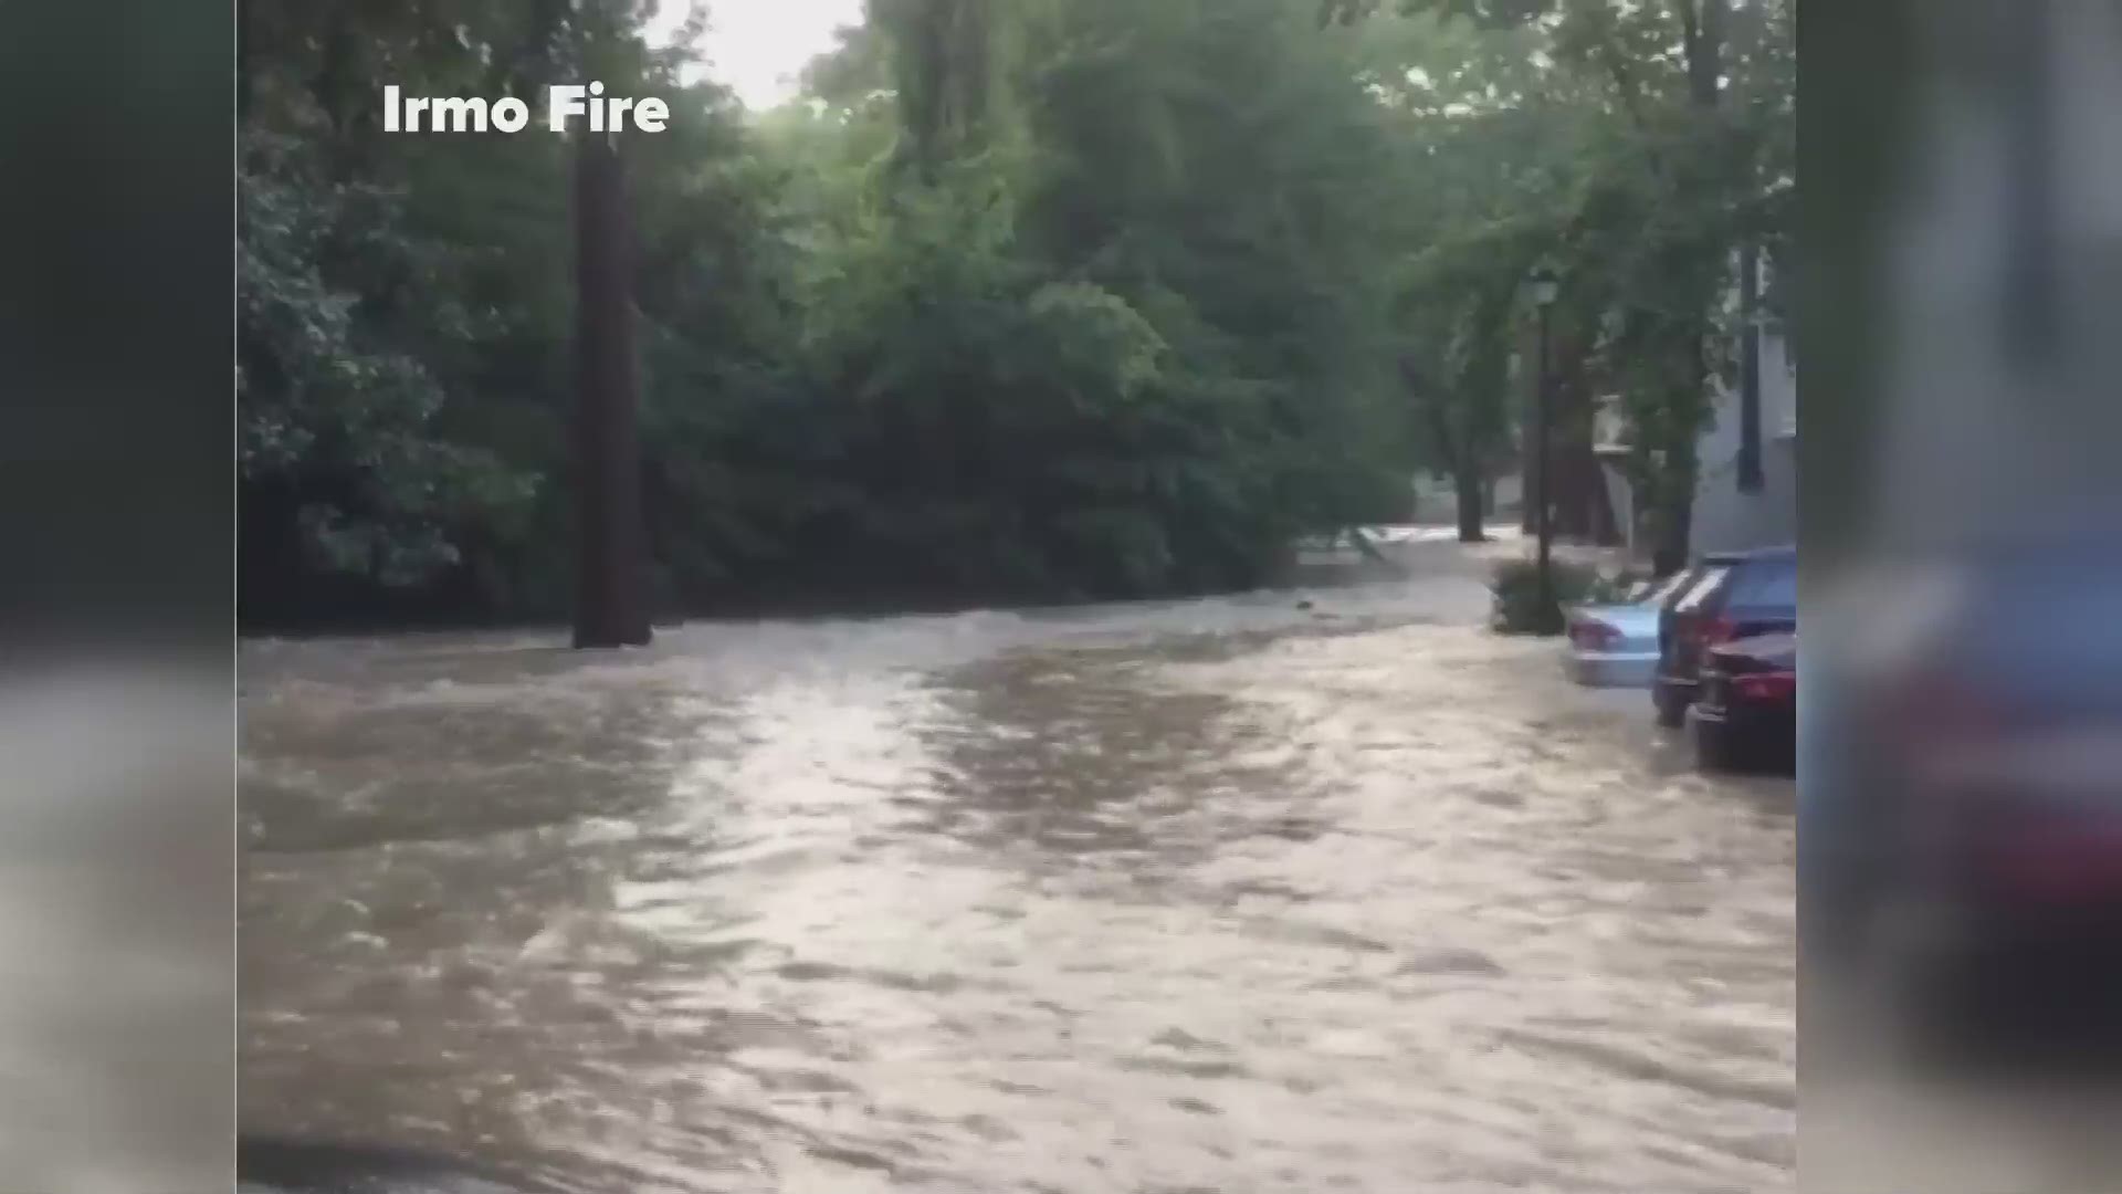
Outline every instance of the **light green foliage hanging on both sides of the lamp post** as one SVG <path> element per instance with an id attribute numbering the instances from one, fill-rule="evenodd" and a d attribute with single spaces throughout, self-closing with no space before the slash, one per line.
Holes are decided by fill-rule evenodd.
<path id="1" fill-rule="evenodd" d="M 1789 0 L 1324 0 L 1364 30 L 1409 115 L 1428 244 L 1405 280 L 1405 357 L 1432 457 L 1494 442 L 1509 321 L 1532 261 L 1564 280 L 1555 370 L 1619 393 L 1647 506 L 1687 525 L 1712 378 L 1732 378 L 1742 244 L 1787 263 L 1795 204 Z M 1766 314 L 1787 323 L 1772 287 Z"/>

